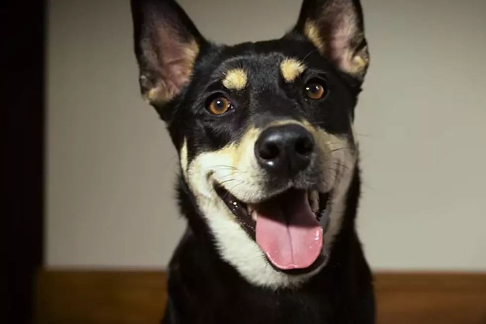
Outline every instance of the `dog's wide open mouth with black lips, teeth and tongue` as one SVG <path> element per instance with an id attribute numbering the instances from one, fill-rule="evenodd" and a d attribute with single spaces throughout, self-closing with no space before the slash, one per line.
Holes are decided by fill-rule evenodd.
<path id="1" fill-rule="evenodd" d="M 291 188 L 259 203 L 245 203 L 221 186 L 215 190 L 275 269 L 298 274 L 324 263 L 329 193 Z"/>

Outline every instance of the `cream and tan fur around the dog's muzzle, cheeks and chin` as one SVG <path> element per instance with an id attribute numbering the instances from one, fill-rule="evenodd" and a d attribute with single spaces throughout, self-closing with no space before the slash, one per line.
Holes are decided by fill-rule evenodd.
<path id="1" fill-rule="evenodd" d="M 275 271 L 266 261 L 256 242 L 248 237 L 233 213 L 214 190 L 217 183 L 239 200 L 255 203 L 266 199 L 265 171 L 258 165 L 254 144 L 260 133 L 272 126 L 296 124 L 309 130 L 316 142 L 316 163 L 322 170 L 320 192 L 332 190 L 329 208 L 329 225 L 324 233 L 324 252 L 328 253 L 339 233 L 346 206 L 346 193 L 351 183 L 357 153 L 347 137 L 327 133 L 307 121 L 284 120 L 266 125 L 262 129 L 249 127 L 238 142 L 220 150 L 204 152 L 187 165 L 187 144 L 181 149 L 181 167 L 196 202 L 206 217 L 222 257 L 232 264 L 249 282 L 270 288 L 292 287 L 301 284 L 318 272 L 288 275 Z M 187 170 L 184 172 L 184 170 Z M 282 188 L 282 192 L 288 188 Z"/>

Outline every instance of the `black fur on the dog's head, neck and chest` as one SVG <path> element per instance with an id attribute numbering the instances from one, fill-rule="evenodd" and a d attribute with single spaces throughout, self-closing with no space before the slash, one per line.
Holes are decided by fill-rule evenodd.
<path id="1" fill-rule="evenodd" d="M 329 133 L 352 136 L 351 122 L 363 78 L 343 71 L 333 60 L 323 57 L 303 33 L 305 19 L 318 17 L 319 8 L 326 2 L 329 1 L 305 0 L 295 28 L 281 39 L 224 46 L 204 40 L 174 1 L 132 0 L 135 54 L 141 75 L 148 77 L 148 81 L 140 83 L 142 93 L 147 93 L 157 82 L 158 69 L 147 60 L 141 44 L 147 39 L 155 43 L 164 41 L 153 40 L 154 31 L 164 26 L 160 21 L 169 21 L 173 33 L 180 36 L 171 42 L 183 47 L 192 37 L 199 47 L 190 81 L 171 100 L 151 102 L 166 122 L 178 151 L 185 138 L 191 161 L 202 152 L 238 141 L 250 124 L 264 125 L 283 118 L 306 120 Z M 357 23 L 363 31 L 359 1 L 348 2 L 354 3 L 359 17 Z M 331 21 L 326 20 L 326 28 L 332 27 Z M 365 41 L 356 45 L 356 51 L 364 44 Z M 292 85 L 284 82 L 279 74 L 279 63 L 287 57 L 298 58 L 308 66 Z M 242 91 L 229 91 L 221 84 L 223 73 L 234 67 L 247 71 L 248 86 Z M 312 102 L 304 98 L 300 89 L 314 78 L 325 83 L 329 93 L 324 99 Z M 222 116 L 209 114 L 205 107 L 214 94 L 228 97 L 233 109 Z M 343 226 L 328 264 L 294 289 L 272 290 L 248 283 L 219 256 L 215 238 L 182 176 L 177 190 L 188 226 L 169 265 L 169 303 L 163 323 L 375 322 L 372 276 L 355 230 L 360 196 L 358 166 L 349 188 Z"/>

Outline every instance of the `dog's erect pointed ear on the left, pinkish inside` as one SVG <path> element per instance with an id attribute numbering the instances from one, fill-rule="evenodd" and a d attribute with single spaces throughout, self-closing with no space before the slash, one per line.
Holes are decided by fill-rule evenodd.
<path id="1" fill-rule="evenodd" d="M 189 82 L 204 42 L 174 0 L 131 0 L 135 55 L 143 98 L 169 102 Z"/>

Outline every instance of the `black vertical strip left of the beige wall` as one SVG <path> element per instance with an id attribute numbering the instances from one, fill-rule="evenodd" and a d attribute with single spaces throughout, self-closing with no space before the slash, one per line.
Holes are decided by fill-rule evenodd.
<path id="1" fill-rule="evenodd" d="M 34 274 L 43 260 L 45 22 L 46 1 L 1 1 L 2 323 L 32 323 Z"/>

